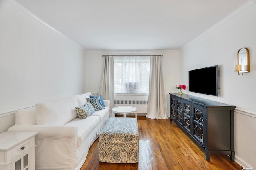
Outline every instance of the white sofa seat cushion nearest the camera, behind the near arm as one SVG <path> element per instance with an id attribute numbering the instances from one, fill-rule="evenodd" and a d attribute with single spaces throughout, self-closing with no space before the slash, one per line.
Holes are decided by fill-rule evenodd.
<path id="1" fill-rule="evenodd" d="M 69 121 L 63 126 L 74 126 L 78 128 L 78 139 L 77 146 L 79 147 L 81 143 L 87 138 L 90 132 L 100 123 L 100 117 L 89 116 L 86 119 L 80 119 L 76 117 L 72 121 Z"/>

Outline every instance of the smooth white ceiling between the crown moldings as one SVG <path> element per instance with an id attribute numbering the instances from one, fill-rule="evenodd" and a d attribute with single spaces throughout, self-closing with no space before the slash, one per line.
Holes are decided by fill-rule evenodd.
<path id="1" fill-rule="evenodd" d="M 18 0 L 88 50 L 178 50 L 247 0 Z"/>

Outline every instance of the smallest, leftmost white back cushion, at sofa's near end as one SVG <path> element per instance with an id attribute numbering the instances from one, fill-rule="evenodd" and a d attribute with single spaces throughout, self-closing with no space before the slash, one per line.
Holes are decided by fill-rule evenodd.
<path id="1" fill-rule="evenodd" d="M 36 107 L 28 107 L 26 109 L 20 109 L 15 113 L 15 125 L 32 124 L 36 125 Z"/>

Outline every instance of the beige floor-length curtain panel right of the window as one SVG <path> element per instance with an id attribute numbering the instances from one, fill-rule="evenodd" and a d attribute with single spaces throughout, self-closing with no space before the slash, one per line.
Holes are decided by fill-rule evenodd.
<path id="1" fill-rule="evenodd" d="M 162 60 L 160 56 L 150 57 L 150 81 L 148 109 L 146 117 L 150 119 L 167 119 L 168 110 L 164 92 Z"/>

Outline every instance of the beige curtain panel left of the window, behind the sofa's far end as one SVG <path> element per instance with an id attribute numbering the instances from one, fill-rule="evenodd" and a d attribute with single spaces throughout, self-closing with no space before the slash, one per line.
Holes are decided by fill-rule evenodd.
<path id="1" fill-rule="evenodd" d="M 102 98 L 110 101 L 110 113 L 114 107 L 114 59 L 112 56 L 104 57 L 104 64 L 102 70 L 102 76 L 98 95 L 102 95 Z M 110 117 L 115 117 L 112 113 Z"/>

